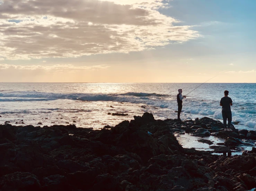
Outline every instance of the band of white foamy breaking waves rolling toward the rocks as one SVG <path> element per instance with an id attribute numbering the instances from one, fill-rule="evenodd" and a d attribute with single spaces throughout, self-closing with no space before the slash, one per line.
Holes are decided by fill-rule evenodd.
<path id="1" fill-rule="evenodd" d="M 175 96 L 176 97 L 176 96 Z M 55 99 L 73 99 L 73 100 L 87 100 L 87 101 L 114 101 L 127 102 L 135 104 L 147 104 L 153 107 L 166 108 L 170 110 L 177 110 L 177 101 L 174 96 L 157 93 L 47 93 L 36 91 L 12 91 L 1 92 L 0 102 L 2 101 L 49 101 Z M 221 107 L 218 101 L 207 101 L 197 98 L 185 99 L 183 104 L 183 112 L 212 117 L 214 119 L 222 119 Z M 240 121 L 240 124 L 255 128 L 256 110 L 254 105 L 249 104 L 243 107 L 232 107 L 232 121 Z M 235 109 L 234 109 L 235 108 Z M 54 111 L 59 108 L 49 108 L 47 110 Z M 69 111 L 76 112 L 76 111 Z M 164 112 L 164 111 L 163 111 Z"/>

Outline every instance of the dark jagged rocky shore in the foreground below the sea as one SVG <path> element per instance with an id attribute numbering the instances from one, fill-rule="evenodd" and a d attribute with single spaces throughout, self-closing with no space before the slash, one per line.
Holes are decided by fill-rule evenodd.
<path id="1" fill-rule="evenodd" d="M 0 191 L 246 191 L 256 188 L 255 131 L 223 131 L 210 118 L 155 120 L 151 113 L 101 130 L 75 125 L 0 125 Z M 185 149 L 174 133 L 214 135 L 223 145 Z M 211 144 L 209 141 L 205 141 Z M 228 153 L 228 156 L 226 155 Z"/>

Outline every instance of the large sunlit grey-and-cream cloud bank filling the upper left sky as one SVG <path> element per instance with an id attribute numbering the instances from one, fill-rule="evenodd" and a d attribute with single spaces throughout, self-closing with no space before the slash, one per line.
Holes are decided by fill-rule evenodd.
<path id="1" fill-rule="evenodd" d="M 9 60 L 129 53 L 201 35 L 158 9 L 162 0 L 3 0 L 0 52 Z"/>

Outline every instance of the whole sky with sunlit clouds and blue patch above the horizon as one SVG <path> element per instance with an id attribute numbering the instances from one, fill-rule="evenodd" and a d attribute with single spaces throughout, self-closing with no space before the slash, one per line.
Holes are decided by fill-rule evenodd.
<path id="1" fill-rule="evenodd" d="M 0 82 L 256 83 L 254 0 L 0 0 Z"/>

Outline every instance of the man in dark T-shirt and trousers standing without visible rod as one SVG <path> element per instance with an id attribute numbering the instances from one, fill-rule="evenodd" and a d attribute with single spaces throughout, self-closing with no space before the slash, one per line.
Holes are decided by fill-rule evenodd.
<path id="1" fill-rule="evenodd" d="M 222 118 L 223 118 L 223 124 L 224 124 L 224 131 L 232 131 L 230 129 L 231 121 L 232 121 L 232 113 L 230 105 L 232 105 L 232 100 L 230 97 L 228 97 L 228 90 L 224 91 L 224 97 L 220 100 L 220 106 L 222 106 Z M 228 128 L 227 128 L 227 118 L 228 118 Z"/>

